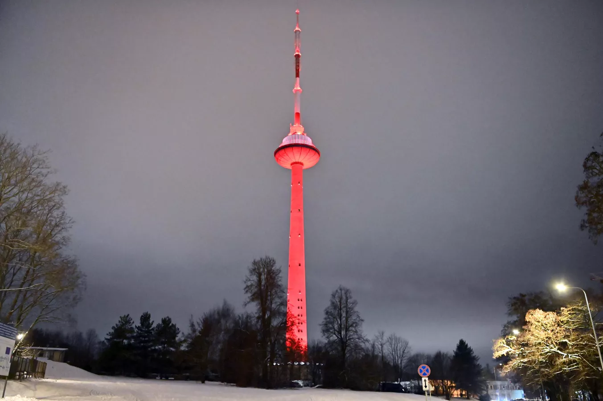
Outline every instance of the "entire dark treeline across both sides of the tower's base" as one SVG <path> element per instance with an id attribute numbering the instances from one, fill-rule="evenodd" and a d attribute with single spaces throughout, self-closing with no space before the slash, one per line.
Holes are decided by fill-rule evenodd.
<path id="1" fill-rule="evenodd" d="M 454 390 L 467 396 L 483 390 L 478 358 L 463 340 L 453 355 L 426 355 L 412 353 L 408 341 L 395 333 L 365 336 L 364 320 L 349 288 L 333 291 L 320 325 L 323 338 L 312 341 L 306 350 L 286 341 L 296 322 L 287 314 L 286 290 L 276 261 L 269 256 L 254 260 L 244 284 L 245 306 L 250 306 L 246 312 L 237 313 L 224 300 L 198 319 L 191 317 L 182 334 L 169 317 L 154 323 L 145 312 L 136 323 L 124 315 L 99 345 L 95 334 L 86 334 L 84 343 L 90 352 L 81 361 L 74 355 L 79 355 L 79 348 L 73 340 L 81 333 L 62 336 L 36 330 L 28 340 L 69 348 L 74 365 L 108 375 L 178 376 L 265 388 L 288 385 L 295 378 L 355 390 L 378 390 L 383 382 L 414 382 L 418 390 L 417 367 L 428 363 L 436 393 L 447 399 Z M 305 374 L 295 373 L 295 365 L 287 363 L 295 361 L 309 362 Z"/>

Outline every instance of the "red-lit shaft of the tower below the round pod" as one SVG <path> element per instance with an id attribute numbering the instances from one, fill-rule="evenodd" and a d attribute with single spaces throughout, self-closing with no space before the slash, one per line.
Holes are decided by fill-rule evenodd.
<path id="1" fill-rule="evenodd" d="M 289 226 L 289 273 L 287 309 L 298 324 L 288 335 L 301 348 L 308 346 L 306 330 L 306 255 L 303 229 L 303 165 L 291 166 L 291 221 Z"/>

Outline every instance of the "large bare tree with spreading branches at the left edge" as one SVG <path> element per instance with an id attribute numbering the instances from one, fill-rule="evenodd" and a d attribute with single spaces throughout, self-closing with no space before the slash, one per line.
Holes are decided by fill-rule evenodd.
<path id="1" fill-rule="evenodd" d="M 0 134 L 0 320 L 22 330 L 68 318 L 84 288 L 52 173 L 46 152 Z"/>

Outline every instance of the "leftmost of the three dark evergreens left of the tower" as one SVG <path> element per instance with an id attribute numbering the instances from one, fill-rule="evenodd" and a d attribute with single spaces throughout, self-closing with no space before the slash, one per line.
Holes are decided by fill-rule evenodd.
<path id="1" fill-rule="evenodd" d="M 134 320 L 130 315 L 119 317 L 119 322 L 111 328 L 105 341 L 107 348 L 101 356 L 107 373 L 124 375 L 133 370 Z"/>

